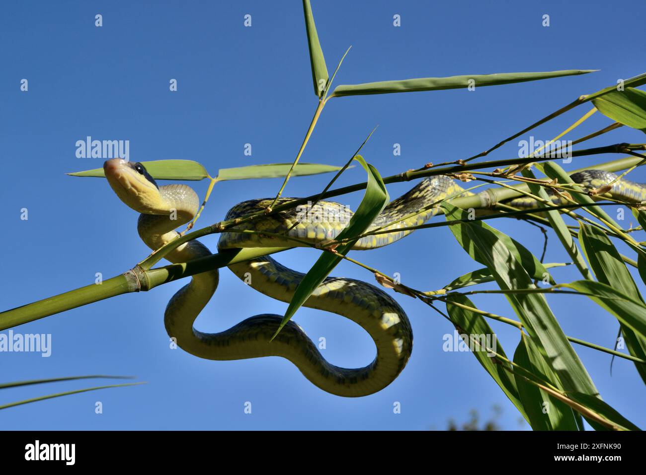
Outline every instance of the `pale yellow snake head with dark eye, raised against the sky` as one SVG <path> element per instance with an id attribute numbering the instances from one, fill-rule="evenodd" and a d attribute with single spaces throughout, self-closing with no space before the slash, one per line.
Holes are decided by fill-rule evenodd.
<path id="1" fill-rule="evenodd" d="M 160 212 L 163 203 L 154 178 L 141 163 L 132 163 L 113 158 L 103 163 L 103 172 L 110 187 L 133 210 L 143 214 L 167 214 Z"/>

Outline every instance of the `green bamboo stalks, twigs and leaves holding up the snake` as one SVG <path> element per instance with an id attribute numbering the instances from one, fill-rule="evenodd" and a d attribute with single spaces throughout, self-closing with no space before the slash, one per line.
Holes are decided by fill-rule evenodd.
<path id="1" fill-rule="evenodd" d="M 156 179 L 182 180 L 211 178 L 209 193 L 216 181 L 285 177 L 284 183 L 276 195 L 274 201 L 274 204 L 276 204 L 290 176 L 320 174 L 337 170 L 343 172 L 346 169 L 346 167 L 332 165 L 298 163 L 309 137 L 317 124 L 320 112 L 326 104 L 326 101 L 330 98 L 398 92 L 435 91 L 467 88 L 470 86 L 507 85 L 592 72 L 592 70 L 563 70 L 379 81 L 357 85 L 340 85 L 328 96 L 331 79 L 329 78 L 326 61 L 318 39 L 317 28 L 309 0 L 303 1 L 303 9 L 307 45 L 309 48 L 309 61 L 318 103 L 315 115 L 307 129 L 306 136 L 304 137 L 295 161 L 293 163 L 224 168 L 218 171 L 215 178 L 209 176 L 205 167 L 200 163 L 192 160 L 154 160 L 142 162 L 153 177 Z M 337 70 L 339 70 L 339 67 L 337 67 Z M 486 161 L 473 162 L 472 160 L 485 156 L 511 139 L 519 137 L 533 128 L 547 123 L 551 119 L 554 119 L 554 117 L 565 114 L 568 110 L 589 101 L 592 101 L 599 112 L 609 117 L 612 121 L 646 132 L 646 92 L 636 89 L 636 87 L 644 84 L 646 84 L 646 73 L 624 81 L 625 90 L 618 90 L 616 85 L 612 85 L 594 94 L 580 96 L 567 106 L 563 106 L 547 117 L 523 128 L 523 130 L 514 136 L 499 141 L 497 145 L 489 148 L 482 154 L 466 160 L 442 164 L 448 165 L 446 168 L 439 169 L 443 174 L 464 174 L 464 176 L 461 176 L 462 179 L 477 179 L 478 177 L 488 176 L 494 183 L 494 187 L 488 190 L 487 199 L 479 196 L 470 196 L 446 199 L 441 203 L 441 211 L 446 214 L 448 225 L 459 247 L 463 248 L 468 256 L 481 265 L 484 265 L 485 268 L 479 268 L 453 279 L 450 284 L 446 285 L 440 291 L 421 292 L 415 288 L 401 285 L 400 283 L 390 282 L 388 279 L 383 278 L 385 274 L 362 265 L 362 267 L 374 271 L 375 275 L 382 276 L 380 277 L 382 283 L 386 283 L 388 287 L 394 288 L 398 292 L 402 292 L 402 294 L 418 297 L 429 305 L 437 303 L 437 299 L 446 303 L 450 323 L 459 332 L 466 335 L 466 339 L 469 342 L 474 335 L 495 335 L 494 330 L 488 325 L 486 318 L 494 318 L 503 323 L 515 325 L 519 329 L 520 341 L 516 347 L 512 361 L 507 358 L 499 342 L 497 342 L 495 349 L 480 348 L 474 351 L 474 356 L 487 374 L 491 376 L 494 382 L 503 390 L 503 393 L 530 423 L 532 428 L 536 430 L 581 430 L 583 429 L 582 416 L 589 421 L 594 429 L 638 430 L 638 427 L 630 423 L 630 421 L 621 416 L 621 414 L 601 399 L 601 395 L 598 393 L 594 382 L 590 378 L 587 369 L 583 366 L 578 354 L 576 354 L 572 345 L 570 345 L 570 341 L 576 341 L 592 349 L 609 352 L 610 354 L 621 354 L 614 350 L 599 347 L 594 343 L 567 337 L 563 333 L 557 317 L 548 305 L 548 296 L 553 293 L 575 294 L 568 297 L 573 300 L 585 296 L 598 304 L 599 310 L 607 312 L 610 316 L 614 316 L 621 325 L 621 333 L 627 343 L 627 349 L 632 355 L 632 361 L 634 361 L 641 378 L 646 381 L 646 368 L 642 362 L 646 360 L 646 305 L 641 296 L 638 284 L 634 281 L 626 267 L 626 263 L 636 265 L 641 278 L 646 282 L 646 247 L 644 245 L 645 243 L 637 241 L 632 238 L 632 234 L 629 235 L 628 231 L 623 230 L 601 206 L 590 206 L 599 200 L 601 196 L 590 193 L 590 190 L 569 190 L 567 198 L 571 199 L 570 201 L 572 203 L 583 205 L 581 213 L 585 213 L 585 216 L 575 214 L 563 208 L 547 210 L 547 212 L 543 210 L 541 216 L 532 215 L 531 210 L 523 215 L 514 214 L 514 217 L 519 219 L 539 221 L 542 225 L 552 228 L 568 255 L 572 258 L 574 265 L 576 265 L 583 276 L 583 280 L 556 284 L 552 275 L 547 272 L 547 268 L 556 268 L 557 266 L 565 265 L 565 263 L 544 265 L 521 243 L 487 225 L 484 221 L 488 217 L 485 216 L 481 220 L 474 220 L 470 210 L 464 208 L 495 206 L 497 201 L 517 197 L 521 192 L 543 200 L 543 205 L 548 207 L 550 206 L 550 202 L 547 189 L 555 187 L 556 184 L 561 186 L 571 184 L 572 179 L 570 179 L 568 172 L 563 170 L 554 161 L 546 161 L 547 158 L 545 157 L 534 158 L 536 162 L 542 162 L 536 168 L 547 176 L 544 179 L 537 178 L 534 172 L 528 168 L 521 170 L 523 177 L 518 177 L 513 173 L 505 174 L 501 170 L 497 170 L 495 173 L 486 171 L 494 167 L 500 167 L 501 165 L 523 165 L 523 167 L 530 167 L 532 159 L 527 159 L 523 163 L 519 163 L 521 162 L 519 160 L 502 160 L 495 163 Z M 568 129 L 568 131 L 572 130 L 572 128 Z M 607 130 L 602 129 L 596 134 L 580 139 L 579 142 L 589 139 L 592 136 L 599 136 L 605 133 L 605 131 Z M 646 159 L 646 156 L 637 153 L 636 150 L 645 149 L 646 145 L 644 144 L 632 144 L 630 147 L 614 145 L 603 148 L 602 150 L 579 150 L 578 156 L 598 154 L 601 152 L 630 154 L 630 157 L 593 167 L 616 171 L 641 165 Z M 344 192 L 355 191 L 365 187 L 366 192 L 364 197 L 357 212 L 355 212 L 335 242 L 318 243 L 317 246 L 313 246 L 324 248 L 324 251 L 320 255 L 320 258 L 318 258 L 317 263 L 307 272 L 305 278 L 302 279 L 293 299 L 289 303 L 280 328 L 289 321 L 291 316 L 304 304 L 317 286 L 329 275 L 331 270 L 348 254 L 357 239 L 366 233 L 371 223 L 375 220 L 375 217 L 386 206 L 388 203 L 388 192 L 384 182 L 395 183 L 397 181 L 408 181 L 410 179 L 440 173 L 438 169 L 427 165 L 419 168 L 419 170 L 402 172 L 397 176 L 382 179 L 377 169 L 366 163 L 362 157 L 355 156 L 354 159 L 359 161 L 360 165 L 366 170 L 368 174 L 367 183 L 342 188 L 341 190 L 333 190 L 332 192 L 327 192 L 326 187 L 323 193 L 315 195 L 315 197 L 320 199 L 328 196 L 337 196 Z M 471 163 L 466 163 L 468 161 L 471 161 Z M 474 175 L 469 175 L 465 172 L 470 172 Z M 104 176 L 103 169 L 101 168 L 76 172 L 70 175 L 81 177 Z M 523 183 L 518 183 L 516 188 L 510 189 L 508 185 L 505 188 L 503 187 L 503 183 L 495 181 L 495 179 L 501 177 L 503 179 L 523 181 Z M 627 204 L 621 201 L 621 199 L 616 199 L 615 201 L 618 205 Z M 297 204 L 298 202 L 295 202 L 293 206 Z M 643 204 L 641 203 L 640 206 L 630 203 L 630 206 L 632 213 L 641 227 L 646 229 L 646 212 L 641 209 Z M 284 208 L 280 208 L 278 211 L 282 209 Z M 276 212 L 276 210 L 268 207 L 266 212 L 272 213 Z M 568 216 L 574 217 L 575 225 L 568 225 L 563 216 L 564 212 L 567 212 Z M 495 217 L 499 218 L 500 216 Z M 258 217 L 247 216 L 240 218 L 240 221 L 252 221 L 253 219 L 258 219 Z M 101 298 L 109 298 L 126 292 L 139 291 L 142 290 L 141 281 L 147 283 L 149 288 L 152 288 L 155 285 L 160 285 L 161 283 L 166 283 L 176 278 L 203 272 L 206 270 L 204 262 L 198 265 L 185 263 L 183 265 L 176 265 L 175 267 L 157 269 L 151 269 L 151 266 L 174 247 L 213 232 L 222 232 L 225 228 L 231 227 L 233 224 L 222 221 L 222 223 L 218 223 L 217 225 L 186 234 L 183 238 L 177 239 L 174 243 L 161 248 L 156 252 L 156 256 L 149 257 L 144 261 L 145 265 L 139 267 L 141 273 L 136 276 L 137 285 L 133 285 L 132 278 L 127 277 L 129 274 L 125 273 L 118 278 L 113 278 L 115 280 L 112 287 L 106 285 L 110 283 L 110 280 L 107 280 L 104 281 L 102 286 L 90 286 L 92 287 L 91 291 L 89 290 L 90 287 L 72 290 L 66 294 L 61 294 L 61 296 L 44 299 L 43 301 L 3 312 L 0 314 L 0 328 L 20 325 L 26 321 L 32 321 L 55 312 L 61 312 L 67 308 L 86 305 Z M 425 232 L 430 232 L 430 229 L 425 230 Z M 583 252 L 579 250 L 579 246 L 575 241 L 577 237 Z M 634 251 L 637 254 L 636 263 L 633 259 L 622 256 L 613 241 L 621 242 Z M 278 252 L 280 250 L 284 250 L 284 248 L 267 248 L 266 253 Z M 450 251 L 446 250 L 446 252 Z M 236 250 L 227 250 L 219 255 L 211 256 L 209 259 L 211 268 L 215 268 L 236 261 L 235 259 L 242 261 L 249 257 L 258 257 L 259 255 L 262 255 L 262 252 L 259 253 L 258 250 L 244 250 L 239 253 Z M 181 272 L 178 270 L 180 268 Z M 594 272 L 594 276 L 590 270 Z M 595 278 L 596 280 L 594 280 Z M 543 288 L 535 285 L 532 283 L 532 279 L 541 281 L 543 283 L 542 285 L 549 285 L 551 287 Z M 474 287 L 488 282 L 495 283 L 499 290 L 457 291 L 465 287 Z M 143 290 L 148 290 L 148 288 L 144 288 Z M 518 321 L 494 316 L 494 314 L 477 308 L 476 304 L 466 295 L 478 294 L 479 292 L 504 294 L 510 308 L 516 314 Z M 280 328 L 278 331 L 280 331 Z M 58 380 L 94 377 L 98 376 L 61 378 Z M 54 379 L 7 383 L 0 385 L 0 389 L 51 381 L 54 381 Z M 128 384 L 137 383 L 127 383 L 126 385 Z M 74 394 L 76 392 L 116 386 L 119 385 L 51 394 L 41 396 L 40 398 L 10 403 L 0 406 L 0 409 L 31 401 Z M 453 429 L 457 429 L 457 425 L 455 424 L 452 427 Z M 464 430 L 475 429 L 477 429 L 477 417 L 472 418 L 470 423 L 464 425 Z"/>

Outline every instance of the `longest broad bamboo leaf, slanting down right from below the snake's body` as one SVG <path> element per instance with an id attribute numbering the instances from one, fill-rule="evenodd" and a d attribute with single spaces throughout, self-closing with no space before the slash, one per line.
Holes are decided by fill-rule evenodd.
<path id="1" fill-rule="evenodd" d="M 446 219 L 464 219 L 465 210 L 444 202 Z M 492 271 L 495 281 L 502 290 L 535 288 L 522 259 L 514 255 L 510 239 L 501 239 L 503 233 L 486 225 L 483 221 L 463 222 L 451 225 L 450 229 L 460 245 L 476 261 L 483 263 Z M 536 259 L 536 258 L 534 258 Z M 529 261 L 533 265 L 533 261 Z M 563 388 L 578 390 L 586 394 L 598 394 L 594 383 L 581 363 L 567 337 L 563 333 L 552 310 L 547 305 L 545 296 L 539 293 L 505 294 L 514 312 L 528 333 L 541 355 L 549 361 L 557 374 Z"/>

